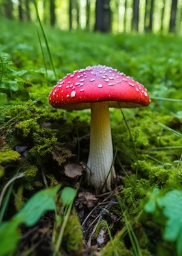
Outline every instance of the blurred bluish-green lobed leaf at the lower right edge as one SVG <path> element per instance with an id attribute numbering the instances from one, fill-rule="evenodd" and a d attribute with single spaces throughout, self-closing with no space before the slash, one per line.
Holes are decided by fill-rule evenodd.
<path id="1" fill-rule="evenodd" d="M 164 197 L 158 198 L 157 204 L 163 208 L 162 212 L 167 217 L 164 239 L 168 241 L 178 240 L 182 232 L 182 192 L 174 189 L 166 193 Z"/>

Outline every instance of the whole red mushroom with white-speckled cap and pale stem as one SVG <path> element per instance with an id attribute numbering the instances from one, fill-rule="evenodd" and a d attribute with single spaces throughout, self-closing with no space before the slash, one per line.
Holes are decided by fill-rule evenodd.
<path id="1" fill-rule="evenodd" d="M 55 108 L 91 108 L 90 152 L 86 179 L 94 186 L 96 192 L 110 189 L 115 177 L 112 167 L 109 107 L 147 106 L 149 101 L 147 90 L 142 84 L 116 69 L 103 65 L 86 67 L 67 74 L 49 94 L 49 103 Z"/>

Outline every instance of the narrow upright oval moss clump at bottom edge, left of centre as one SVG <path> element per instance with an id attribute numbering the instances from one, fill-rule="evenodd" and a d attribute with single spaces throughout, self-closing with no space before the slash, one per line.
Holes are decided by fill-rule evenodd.
<path id="1" fill-rule="evenodd" d="M 79 255 L 79 251 L 83 249 L 83 232 L 79 218 L 75 213 L 69 216 L 64 231 L 63 244 L 70 255 Z"/>

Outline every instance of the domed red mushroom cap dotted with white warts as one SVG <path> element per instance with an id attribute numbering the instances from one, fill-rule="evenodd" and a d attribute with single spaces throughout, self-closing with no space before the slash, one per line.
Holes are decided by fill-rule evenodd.
<path id="1" fill-rule="evenodd" d="M 69 110 L 90 108 L 90 103 L 99 101 L 108 101 L 115 108 L 147 106 L 150 102 L 142 84 L 103 65 L 67 74 L 49 94 L 51 105 Z"/>

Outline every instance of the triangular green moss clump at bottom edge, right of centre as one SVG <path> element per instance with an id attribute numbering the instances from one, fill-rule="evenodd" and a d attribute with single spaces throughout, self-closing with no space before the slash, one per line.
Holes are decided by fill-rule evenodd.
<path id="1" fill-rule="evenodd" d="M 100 256 L 114 256 L 114 255 L 124 255 L 124 256 L 134 256 L 132 251 L 125 248 L 125 245 L 122 242 L 122 231 L 119 231 L 118 234 L 114 237 L 114 240 L 109 241 L 107 245 L 101 249 Z"/>

